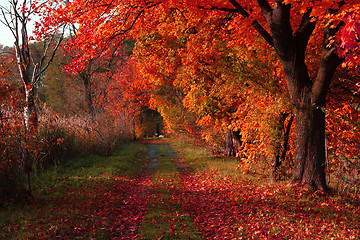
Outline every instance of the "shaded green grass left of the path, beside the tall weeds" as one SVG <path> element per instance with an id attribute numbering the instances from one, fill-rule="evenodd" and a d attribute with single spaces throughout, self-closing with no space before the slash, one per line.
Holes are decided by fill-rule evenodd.
<path id="1" fill-rule="evenodd" d="M 81 233 L 68 235 L 73 231 L 71 228 L 77 225 L 85 228 L 89 224 L 89 216 L 93 214 L 91 221 L 105 223 L 106 220 L 101 219 L 103 216 L 96 216 L 93 212 L 104 209 L 101 209 L 102 206 L 97 209 L 97 202 L 104 204 L 108 201 L 106 194 L 114 186 L 124 186 L 124 191 L 116 191 L 119 196 L 115 200 L 125 198 L 128 183 L 123 181 L 139 175 L 146 163 L 147 146 L 134 142 L 118 146 L 110 157 L 77 157 L 33 174 L 33 203 L 13 204 L 0 210 L 0 239 L 41 238 L 41 234 L 51 238 L 49 232 L 76 238 Z M 117 175 L 124 180 L 114 179 Z M 95 210 L 91 209 L 91 205 L 95 206 Z M 39 235 L 35 236 L 34 232 Z M 107 235 L 106 229 L 84 232 L 84 236 L 95 239 L 104 239 Z"/>

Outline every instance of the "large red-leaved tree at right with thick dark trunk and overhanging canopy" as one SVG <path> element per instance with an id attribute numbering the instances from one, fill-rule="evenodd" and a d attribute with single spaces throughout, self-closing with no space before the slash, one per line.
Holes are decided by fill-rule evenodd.
<path id="1" fill-rule="evenodd" d="M 230 45 L 249 48 L 260 45 L 264 53 L 275 51 L 280 62 L 295 115 L 292 182 L 326 191 L 326 96 L 339 65 L 344 60 L 354 68 L 358 64 L 358 7 L 359 3 L 353 0 L 75 0 L 58 8 L 49 18 L 57 23 L 80 24 L 78 38 L 72 44 L 86 50 L 88 55 L 94 55 L 99 49 L 106 48 L 110 40 L 121 39 L 130 33 L 136 36 L 142 28 L 151 28 L 166 18 L 172 9 L 184 10 L 189 22 L 207 21 L 228 13 L 223 29 L 224 35 L 232 36 Z"/>

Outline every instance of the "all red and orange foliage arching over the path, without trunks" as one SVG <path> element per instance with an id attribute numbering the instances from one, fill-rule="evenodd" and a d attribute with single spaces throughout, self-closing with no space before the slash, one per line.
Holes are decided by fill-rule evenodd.
<path id="1" fill-rule="evenodd" d="M 52 4 L 57 2 L 52 1 Z M 316 22 L 305 57 L 311 80 L 316 79 L 319 68 L 324 28 L 331 26 L 337 30 L 342 21 L 344 25 L 336 39 L 329 39 L 329 45 L 339 44 L 339 55 L 345 58 L 342 67 L 358 67 L 358 1 L 286 0 L 282 3 L 291 4 L 292 29 L 302 26 L 307 13 L 310 13 L 310 21 Z M 78 48 L 84 54 L 72 67 L 79 67 L 100 53 L 106 56 L 109 46 L 116 46 L 124 38 L 136 39 L 136 64 L 141 77 L 139 81 L 128 78 L 131 83 L 125 85 L 131 89 L 134 83 L 140 84 L 139 88 L 151 89 L 150 104 L 163 115 L 169 129 L 191 129 L 189 131 L 193 132 L 197 130 L 196 123 L 209 141 L 214 133 L 240 130 L 244 143 L 240 153 L 246 153 L 245 162 L 250 163 L 259 155 L 269 161 L 274 157 L 274 146 L 279 140 L 276 121 L 292 106 L 282 64 L 274 56 L 271 36 L 267 35 L 270 29 L 266 24 L 266 12 L 259 7 L 261 4 L 269 4 L 270 8 L 277 3 L 74 0 L 50 9 L 51 14 L 44 17 L 44 27 L 65 23 L 79 25 L 76 37 L 67 47 Z M 358 79 L 354 86 L 359 87 Z M 141 94 L 135 96 L 142 101 Z M 337 107 L 331 111 L 339 117 L 345 113 L 356 115 L 358 110 L 354 109 Z M 188 111 L 192 114 L 187 114 Z M 338 134 L 337 124 L 346 123 L 343 118 L 331 118 L 331 115 L 327 121 L 329 136 Z M 334 148 L 350 144 L 345 136 L 359 141 L 356 129 L 345 129 L 343 137 L 337 140 L 329 137 L 329 141 L 335 141 L 331 143 Z M 345 145 L 336 143 L 340 139 Z M 350 144 L 349 148 L 352 146 Z"/>

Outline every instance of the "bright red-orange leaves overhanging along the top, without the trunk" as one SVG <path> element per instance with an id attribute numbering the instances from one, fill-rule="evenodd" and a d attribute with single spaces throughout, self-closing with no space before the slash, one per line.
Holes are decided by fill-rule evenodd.
<path id="1" fill-rule="evenodd" d="M 248 10 L 248 17 L 236 12 L 235 1 L 218 0 L 182 0 L 182 1 L 141 1 L 141 0 L 102 0 L 102 1 L 50 1 L 49 5 L 43 7 L 43 25 L 37 28 L 38 35 L 42 35 L 49 29 L 59 27 L 61 24 L 79 24 L 77 36 L 67 44 L 69 47 L 81 49 L 85 54 L 79 56 L 74 62 L 75 65 L 86 62 L 89 57 L 96 56 L 100 51 L 107 49 L 112 41 L 121 41 L 126 37 L 136 37 L 144 29 L 157 27 L 159 23 L 164 23 L 168 16 L 174 11 L 178 11 L 185 20 L 185 25 L 178 26 L 187 28 L 191 31 L 196 29 L 197 24 L 218 20 L 222 21 L 222 37 L 229 40 L 229 46 L 246 46 L 249 50 L 254 48 L 254 44 L 261 46 L 262 51 L 269 51 L 264 42 L 257 41 L 259 33 L 252 28 L 254 21 L 257 21 L 265 30 L 269 30 L 265 24 L 264 15 L 256 1 L 238 1 L 243 9 Z M 274 1 L 269 1 L 272 5 Z M 313 34 L 311 48 L 319 46 L 322 39 L 324 24 L 337 24 L 345 21 L 345 26 L 341 29 L 338 41 L 341 43 L 341 54 L 355 51 L 358 43 L 351 39 L 357 38 L 359 34 L 359 14 L 360 3 L 354 0 L 326 0 L 326 1 L 306 1 L 286 0 L 284 3 L 291 4 L 292 15 L 291 24 L 293 29 L 300 25 L 302 15 L 311 7 L 313 21 L 319 24 Z M 336 9 L 341 6 L 336 15 L 328 14 L 329 9 Z M 300 14 L 299 14 L 300 13 Z M 227 18 L 224 19 L 224 16 Z M 176 31 L 174 24 L 170 23 L 162 27 L 163 31 Z M 231 34 L 231 37 L 229 37 Z M 91 37 L 89 37 L 91 36 Z M 351 40 L 351 41 L 350 41 Z M 197 45 L 201 42 L 197 42 Z M 350 44 L 350 45 L 349 45 Z M 101 54 L 105 56 L 107 51 Z M 265 55 L 266 56 L 266 55 Z M 309 59 L 309 61 L 311 61 Z"/>

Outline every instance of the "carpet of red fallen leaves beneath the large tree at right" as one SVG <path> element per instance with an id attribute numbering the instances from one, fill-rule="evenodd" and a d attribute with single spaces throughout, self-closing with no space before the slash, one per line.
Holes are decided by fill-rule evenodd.
<path id="1" fill-rule="evenodd" d="M 195 174 L 183 176 L 182 188 L 175 194 L 207 239 L 356 239 L 359 203 L 348 208 L 334 202 L 333 196 L 308 190 L 297 197 L 299 191 L 304 190 L 214 181 L 209 174 Z"/>

